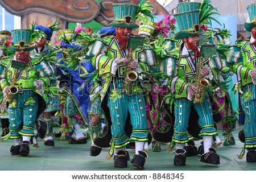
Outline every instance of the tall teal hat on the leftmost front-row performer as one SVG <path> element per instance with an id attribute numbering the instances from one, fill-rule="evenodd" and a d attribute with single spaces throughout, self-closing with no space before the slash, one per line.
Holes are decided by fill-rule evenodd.
<path id="1" fill-rule="evenodd" d="M 12 30 L 13 43 L 11 43 L 11 51 L 32 51 L 35 46 L 31 46 L 31 30 L 30 29 L 16 29 Z"/>

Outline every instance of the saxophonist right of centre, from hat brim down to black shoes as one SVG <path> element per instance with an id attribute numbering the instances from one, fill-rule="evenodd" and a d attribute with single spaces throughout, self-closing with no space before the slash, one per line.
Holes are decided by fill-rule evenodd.
<path id="1" fill-rule="evenodd" d="M 176 143 L 176 155 L 174 158 L 175 166 L 185 166 L 185 150 L 184 146 L 189 140 L 193 140 L 193 137 L 187 133 L 187 128 L 190 125 L 201 126 L 201 131 L 198 134 L 203 138 L 204 142 L 204 154 L 201 157 L 201 162 L 210 164 L 220 164 L 220 158 L 216 154 L 216 151 L 212 148 L 212 137 L 217 134 L 213 125 L 212 106 L 208 94 L 200 93 L 201 79 L 204 81 L 210 81 L 213 78 L 212 68 L 209 67 L 209 60 L 207 57 L 200 57 L 200 49 L 197 47 L 199 44 L 199 34 L 197 32 L 189 32 L 189 34 L 183 34 L 180 32 L 176 34 L 176 39 L 182 39 L 183 43 L 179 48 L 179 57 L 177 60 L 170 59 L 167 64 L 170 64 L 172 68 L 168 75 L 171 77 L 171 91 L 175 96 L 175 123 L 174 123 L 174 136 L 170 145 L 170 149 L 174 147 Z M 200 55 L 200 56 L 199 56 Z M 220 59 L 214 59 L 220 61 Z M 201 63 L 201 64 L 200 64 Z M 221 63 L 219 63 L 221 65 Z M 193 99 L 199 94 L 202 99 L 202 103 L 195 103 Z M 193 123 L 189 122 L 191 115 L 195 117 L 196 113 L 192 113 L 191 109 L 194 108 L 199 116 L 200 123 L 197 123 L 197 119 L 193 120 Z M 196 122 L 195 122 L 196 121 Z"/>

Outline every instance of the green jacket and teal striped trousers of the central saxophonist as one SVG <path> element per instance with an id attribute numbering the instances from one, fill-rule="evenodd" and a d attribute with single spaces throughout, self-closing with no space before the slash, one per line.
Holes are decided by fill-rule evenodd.
<path id="1" fill-rule="evenodd" d="M 146 105 L 142 94 L 143 90 L 137 80 L 131 96 L 127 96 L 127 94 L 123 93 L 122 82 L 125 73 L 125 65 L 117 67 L 115 61 L 117 57 L 126 57 L 128 55 L 127 49 L 126 52 L 120 51 L 117 39 L 106 38 L 104 42 L 97 41 L 94 43 L 90 51 L 94 56 L 92 63 L 104 81 L 101 91 L 103 92 L 101 94 L 101 105 L 103 106 L 103 103 L 108 101 L 110 113 L 105 113 L 105 115 L 109 116 L 110 114 L 112 118 L 112 150 L 110 150 L 110 154 L 113 154 L 114 147 L 122 148 L 126 146 L 130 140 L 147 141 Z M 104 54 L 102 54 L 102 51 L 104 51 Z M 134 51 L 133 59 L 138 59 L 141 65 L 145 65 L 144 63 L 148 63 L 148 61 L 154 61 L 153 54 L 149 49 L 145 51 L 142 49 Z M 127 104 L 123 105 L 125 102 Z M 139 106 L 140 110 L 134 110 L 134 104 Z M 128 110 L 133 125 L 133 133 L 130 137 L 124 133 Z M 109 122 L 108 120 L 108 124 Z"/>

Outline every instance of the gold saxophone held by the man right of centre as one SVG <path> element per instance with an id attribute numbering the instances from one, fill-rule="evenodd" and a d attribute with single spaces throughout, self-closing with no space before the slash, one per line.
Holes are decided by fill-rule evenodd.
<path id="1" fill-rule="evenodd" d="M 204 97 L 207 94 L 207 88 L 210 85 L 209 81 L 201 75 L 200 71 L 203 68 L 203 56 L 199 57 L 199 61 L 196 67 L 196 82 L 195 86 L 198 89 L 197 94 L 193 97 L 194 104 L 202 104 L 204 102 Z"/>

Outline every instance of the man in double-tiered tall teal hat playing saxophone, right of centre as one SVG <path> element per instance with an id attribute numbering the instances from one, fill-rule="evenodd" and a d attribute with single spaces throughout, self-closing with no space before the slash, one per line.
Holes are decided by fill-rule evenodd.
<path id="1" fill-rule="evenodd" d="M 202 3 L 205 3 L 202 2 Z M 204 4 L 205 5 L 205 4 Z M 201 130 L 199 136 L 203 138 L 204 154 L 201 156 L 200 162 L 210 164 L 220 164 L 220 157 L 212 148 L 212 137 L 217 135 L 214 128 L 212 117 L 212 105 L 210 97 L 207 93 L 207 86 L 213 79 L 212 69 L 222 69 L 222 63 L 218 54 L 205 54 L 201 47 L 198 47 L 199 35 L 201 28 L 199 27 L 199 16 L 201 3 L 185 2 L 178 4 L 180 13 L 175 14 L 179 32 L 175 35 L 175 39 L 182 39 L 183 43 L 179 49 L 179 58 L 170 62 L 171 69 L 171 92 L 174 94 L 174 135 L 170 144 L 170 151 L 176 143 L 176 152 L 174 158 L 175 166 L 185 166 L 185 143 L 193 139 L 188 135 L 189 115 L 192 107 L 199 116 L 199 125 Z M 203 13 L 203 12 L 201 12 Z M 188 18 L 193 17 L 193 18 Z M 213 47 L 214 48 L 214 47 Z M 204 86 L 201 86 L 204 82 Z M 193 114 L 195 116 L 195 114 Z M 194 121 L 197 121 L 194 120 Z M 193 123 L 197 125 L 197 123 Z"/>

